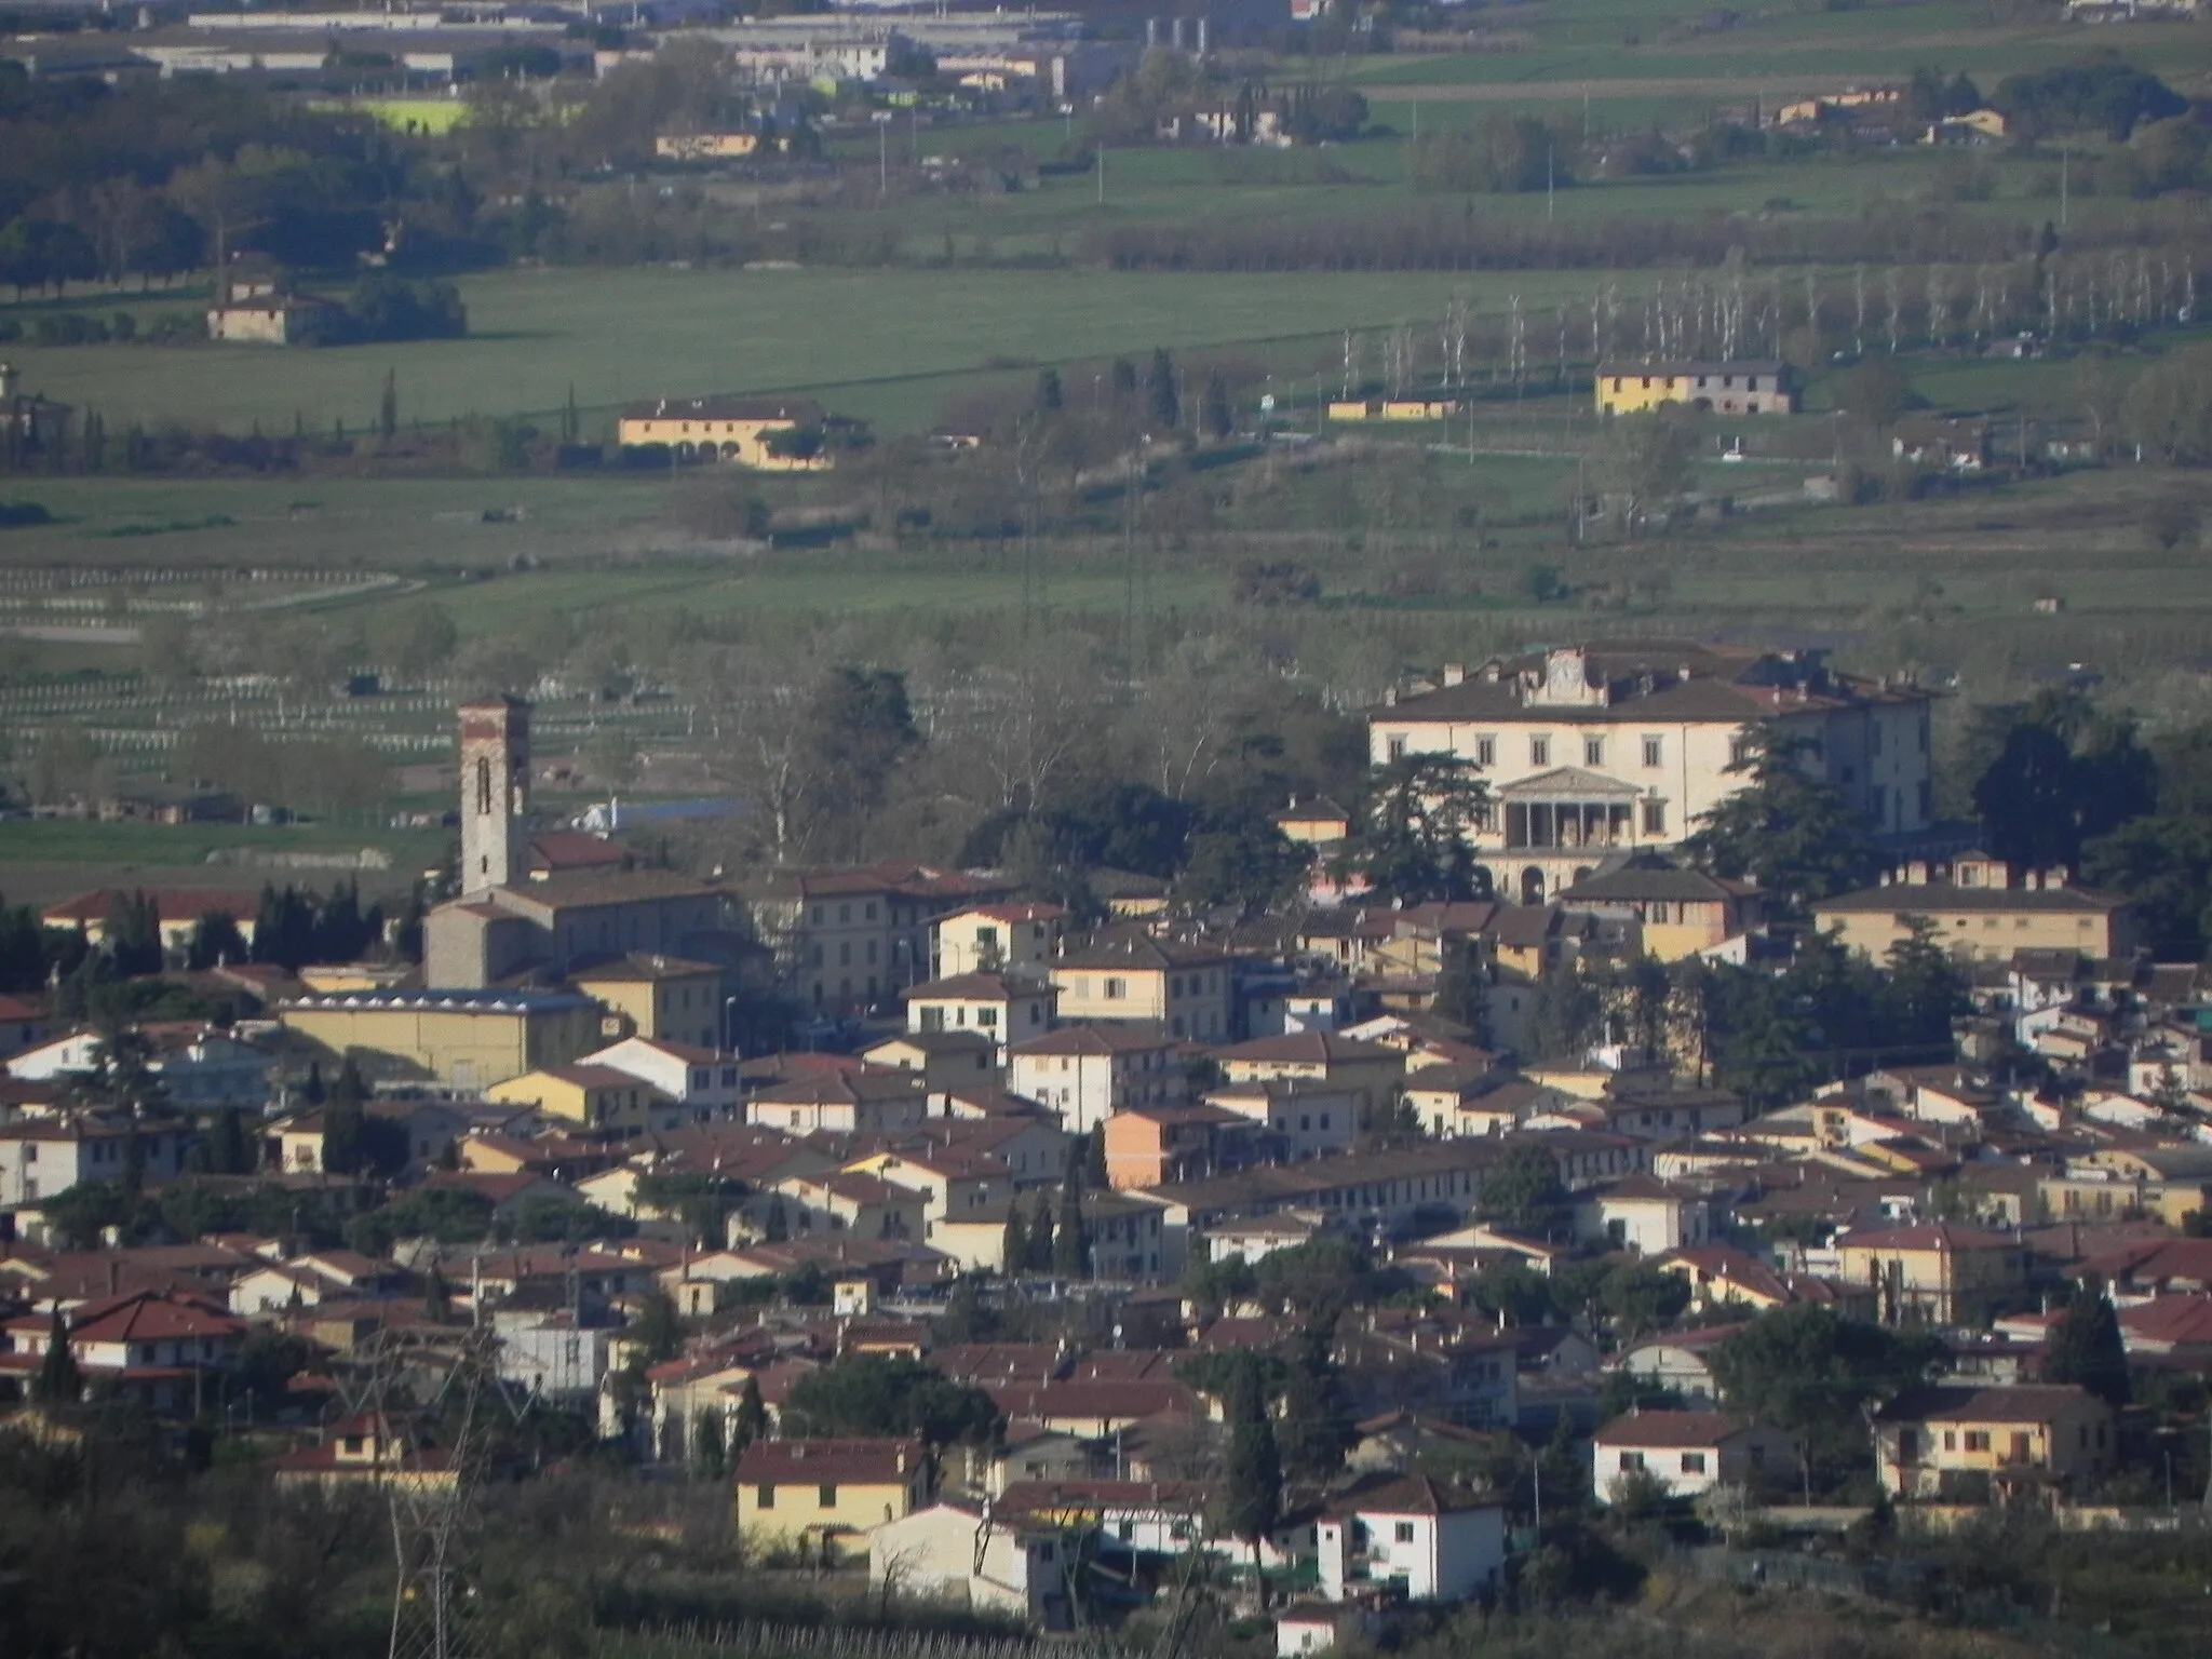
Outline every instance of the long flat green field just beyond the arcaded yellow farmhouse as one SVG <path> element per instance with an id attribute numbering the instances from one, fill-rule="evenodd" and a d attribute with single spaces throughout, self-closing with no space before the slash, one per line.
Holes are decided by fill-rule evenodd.
<path id="1" fill-rule="evenodd" d="M 1544 276 L 1582 294 L 1590 276 Z M 241 431 L 363 431 L 385 372 L 403 418 L 551 418 L 568 387 L 611 411 L 633 398 L 810 392 L 889 429 L 927 427 L 980 372 L 1115 354 L 1296 347 L 1345 327 L 1433 319 L 1455 292 L 1498 312 L 1500 274 L 1148 274 L 1093 270 L 518 270 L 471 276 L 471 338 L 330 352 L 259 347 L 11 347 L 31 387 L 131 420 Z M 606 436 L 613 436 L 611 431 Z"/>

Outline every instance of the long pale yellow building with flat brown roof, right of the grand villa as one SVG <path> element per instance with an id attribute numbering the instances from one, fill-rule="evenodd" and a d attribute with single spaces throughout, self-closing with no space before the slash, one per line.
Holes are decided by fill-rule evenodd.
<path id="1" fill-rule="evenodd" d="M 2073 887 L 2064 869 L 2015 876 L 1995 858 L 1913 863 L 1880 887 L 1823 898 L 1814 920 L 1845 947 L 1880 962 L 1916 920 L 1936 942 L 1975 962 L 2011 962 L 2015 951 L 2077 951 L 2097 960 L 2135 951 L 2135 911 L 2117 894 Z"/>

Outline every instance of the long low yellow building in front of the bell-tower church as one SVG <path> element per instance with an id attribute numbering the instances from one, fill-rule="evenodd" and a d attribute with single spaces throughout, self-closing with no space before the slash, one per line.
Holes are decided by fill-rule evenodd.
<path id="1" fill-rule="evenodd" d="M 453 1088 L 489 1088 L 599 1046 L 602 1009 L 575 991 L 363 991 L 279 1004 L 288 1031 L 363 1051 Z"/>

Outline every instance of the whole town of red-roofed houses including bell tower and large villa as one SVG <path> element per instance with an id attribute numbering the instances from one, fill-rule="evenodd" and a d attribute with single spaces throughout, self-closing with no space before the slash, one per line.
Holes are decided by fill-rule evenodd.
<path id="1" fill-rule="evenodd" d="M 1363 801 L 1283 803 L 1287 900 L 1082 909 L 679 874 L 542 816 L 531 708 L 469 703 L 407 925 L 327 905 L 283 967 L 290 889 L 40 916 L 11 1409 L 529 1480 L 467 1387 L 717 1482 L 763 1568 L 1040 1632 L 1212 1595 L 1281 1655 L 1584 1571 L 1586 1511 L 2170 1526 L 2212 991 L 1938 821 L 1931 703 L 1809 650 L 1442 666 L 1365 712 Z M 1807 885 L 1823 836 L 1867 880 Z"/>

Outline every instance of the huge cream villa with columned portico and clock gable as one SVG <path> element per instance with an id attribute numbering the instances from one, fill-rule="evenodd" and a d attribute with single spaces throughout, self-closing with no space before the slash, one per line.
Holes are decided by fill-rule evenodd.
<path id="1" fill-rule="evenodd" d="M 1843 675 L 1823 653 L 1619 639 L 1498 657 L 1369 710 L 1369 759 L 1455 754 L 1491 807 L 1471 843 L 1524 905 L 1613 854 L 1681 843 L 1743 787 L 1761 732 L 1805 739 L 1803 765 L 1880 832 L 1933 818 L 1931 697 Z"/>

